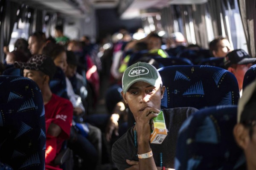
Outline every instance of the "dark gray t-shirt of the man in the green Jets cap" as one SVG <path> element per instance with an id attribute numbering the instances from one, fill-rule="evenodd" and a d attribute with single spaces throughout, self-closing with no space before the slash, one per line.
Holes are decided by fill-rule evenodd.
<path id="1" fill-rule="evenodd" d="M 157 167 L 160 167 L 160 153 L 163 154 L 163 166 L 174 168 L 175 148 L 178 131 L 187 117 L 198 111 L 196 108 L 163 109 L 166 128 L 169 130 L 162 144 L 150 144 Z M 131 127 L 112 147 L 112 159 L 119 170 L 131 167 L 126 159 L 139 161 L 137 148 L 134 146 L 133 127 Z"/>

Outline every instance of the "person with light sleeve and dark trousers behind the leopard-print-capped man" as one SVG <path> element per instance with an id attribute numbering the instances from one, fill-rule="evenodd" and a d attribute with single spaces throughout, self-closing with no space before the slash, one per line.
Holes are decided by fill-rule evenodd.
<path id="1" fill-rule="evenodd" d="M 53 60 L 54 64 L 60 67 L 64 73 L 66 72 L 67 54 L 63 45 L 48 43 L 45 46 L 43 53 L 49 54 L 49 57 Z M 81 116 L 85 111 L 81 102 L 81 97 L 75 94 L 71 82 L 67 77 L 66 83 L 67 96 L 73 105 L 74 117 Z M 73 123 L 76 124 L 78 122 Z M 79 133 L 73 140 L 70 141 L 70 147 L 75 154 L 81 156 L 83 159 L 83 162 L 81 163 L 81 169 L 89 168 L 93 170 L 95 169 L 97 163 L 100 164 L 99 158 L 102 152 L 101 131 L 99 128 L 90 124 L 83 124 L 81 126 L 86 127 L 84 129 L 87 129 L 87 131 L 83 131 L 86 134 L 81 135 Z"/>

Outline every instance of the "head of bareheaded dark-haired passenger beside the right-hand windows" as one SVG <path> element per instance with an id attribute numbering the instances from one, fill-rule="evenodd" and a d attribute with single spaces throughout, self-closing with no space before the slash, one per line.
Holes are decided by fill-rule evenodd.
<path id="1" fill-rule="evenodd" d="M 218 37 L 209 43 L 209 50 L 212 57 L 225 57 L 233 48 L 226 38 Z"/>

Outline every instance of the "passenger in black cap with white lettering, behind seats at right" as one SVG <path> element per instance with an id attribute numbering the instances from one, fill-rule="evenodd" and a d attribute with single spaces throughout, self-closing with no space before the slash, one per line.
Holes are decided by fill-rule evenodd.
<path id="1" fill-rule="evenodd" d="M 256 58 L 250 57 L 242 49 L 231 51 L 224 59 L 224 68 L 233 73 L 237 79 L 240 97 L 242 96 L 244 74 L 255 61 Z"/>

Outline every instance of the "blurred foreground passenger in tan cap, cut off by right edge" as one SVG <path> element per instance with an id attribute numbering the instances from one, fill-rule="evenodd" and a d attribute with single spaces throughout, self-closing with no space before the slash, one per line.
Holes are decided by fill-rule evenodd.
<path id="1" fill-rule="evenodd" d="M 248 85 L 238 103 L 237 124 L 233 133 L 244 150 L 246 170 L 256 170 L 256 81 Z"/>

